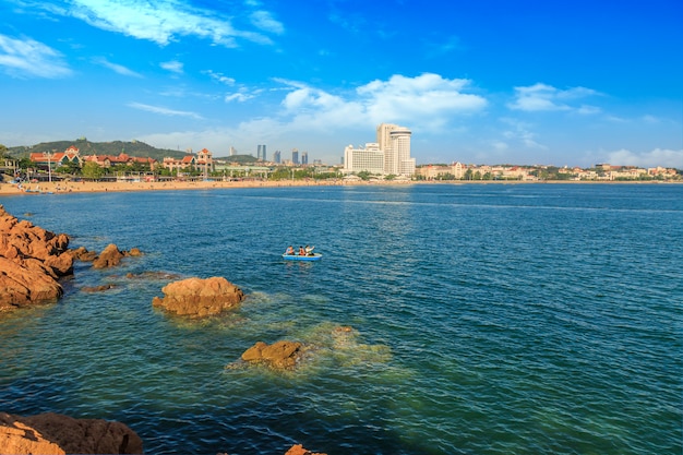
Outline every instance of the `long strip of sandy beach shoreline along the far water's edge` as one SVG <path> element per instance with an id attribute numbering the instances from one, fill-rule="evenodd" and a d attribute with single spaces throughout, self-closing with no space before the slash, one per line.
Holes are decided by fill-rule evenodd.
<path id="1" fill-rule="evenodd" d="M 517 181 L 517 180 L 453 180 L 453 181 L 344 181 L 277 180 L 277 181 L 155 181 L 155 182 L 39 182 L 20 189 L 16 184 L 0 183 L 0 195 L 105 193 L 139 191 L 214 190 L 230 188 L 291 188 L 291 187 L 359 187 L 405 184 L 681 184 L 681 181 Z M 26 191 L 28 190 L 28 191 Z"/>

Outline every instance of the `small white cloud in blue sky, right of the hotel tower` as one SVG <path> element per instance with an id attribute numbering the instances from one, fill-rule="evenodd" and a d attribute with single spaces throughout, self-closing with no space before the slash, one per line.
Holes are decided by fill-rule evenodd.
<path id="1" fill-rule="evenodd" d="M 586 110 L 585 106 L 577 108 L 571 104 L 572 100 L 595 95 L 598 95 L 598 92 L 586 87 L 561 91 L 551 85 L 538 83 L 528 87 L 515 87 L 515 99 L 507 104 L 507 107 L 524 111 L 576 110 L 579 113 L 595 113 L 595 111 Z"/>

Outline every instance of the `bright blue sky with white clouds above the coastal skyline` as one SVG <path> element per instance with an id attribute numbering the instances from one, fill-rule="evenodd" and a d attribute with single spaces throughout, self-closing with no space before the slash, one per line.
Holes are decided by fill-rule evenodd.
<path id="1" fill-rule="evenodd" d="M 0 0 L 0 144 L 683 168 L 680 0 Z"/>

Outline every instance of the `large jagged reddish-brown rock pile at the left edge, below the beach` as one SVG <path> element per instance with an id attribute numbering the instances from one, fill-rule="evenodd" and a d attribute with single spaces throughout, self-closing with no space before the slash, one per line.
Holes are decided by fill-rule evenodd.
<path id="1" fill-rule="evenodd" d="M 69 237 L 19 220 L 0 205 L 0 311 L 62 296 L 73 273 Z"/>

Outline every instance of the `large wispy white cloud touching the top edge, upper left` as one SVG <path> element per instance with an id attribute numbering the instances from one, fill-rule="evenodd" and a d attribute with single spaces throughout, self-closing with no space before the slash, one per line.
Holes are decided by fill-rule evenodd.
<path id="1" fill-rule="evenodd" d="M 37 3 L 37 7 L 41 4 Z M 214 11 L 190 7 L 188 2 L 180 0 L 73 0 L 67 10 L 51 8 L 50 11 L 71 15 L 101 29 L 147 39 L 161 46 L 176 41 L 181 36 L 196 36 L 225 47 L 237 47 L 237 38 L 272 44 L 260 32 L 236 29 L 229 19 L 220 17 Z M 262 31 L 281 33 L 284 29 L 266 11 L 257 12 L 255 17 Z"/>

